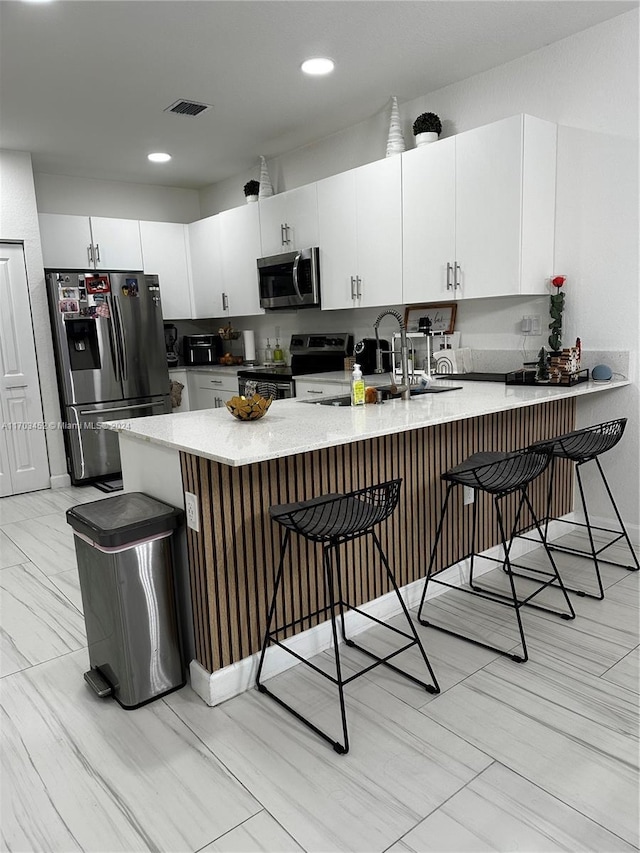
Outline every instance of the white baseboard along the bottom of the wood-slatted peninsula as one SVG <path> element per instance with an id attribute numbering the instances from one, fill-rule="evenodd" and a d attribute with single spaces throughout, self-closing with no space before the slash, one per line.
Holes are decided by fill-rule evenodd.
<path id="1" fill-rule="evenodd" d="M 563 519 L 565 521 L 573 520 L 570 519 L 569 516 L 564 516 Z M 557 522 L 551 522 L 549 524 L 549 539 L 556 539 L 558 536 L 562 536 L 566 533 L 566 525 L 559 524 Z M 512 558 L 517 559 L 523 554 L 533 551 L 537 547 L 539 546 L 536 542 L 526 539 L 517 539 L 513 543 L 511 556 Z M 494 548 L 489 548 L 484 552 L 484 554 L 487 557 L 499 558 L 502 554 L 502 548 L 497 545 Z M 475 574 L 476 576 L 481 575 L 493 568 L 495 568 L 495 566 L 490 563 L 480 564 L 476 567 Z M 454 586 L 461 586 L 465 576 L 468 574 L 468 571 L 469 561 L 462 560 L 460 563 L 456 563 L 455 566 L 448 568 L 440 577 L 447 583 L 453 584 Z M 424 579 L 421 579 L 401 588 L 400 592 L 402 593 L 405 604 L 409 609 L 419 605 L 423 586 Z M 427 598 L 436 598 L 439 595 L 443 595 L 445 592 L 447 592 L 446 587 L 439 586 L 437 584 L 435 586 L 431 585 Z M 381 620 L 391 619 L 393 616 L 396 616 L 401 612 L 398 599 L 393 592 L 386 593 L 385 595 L 380 596 L 380 598 L 376 598 L 373 601 L 363 604 L 360 609 L 371 616 L 375 616 L 376 619 Z M 351 636 L 355 636 L 356 634 L 365 631 L 367 628 L 370 628 L 372 624 L 365 616 L 362 616 L 360 613 L 355 613 L 354 611 L 349 611 L 345 614 L 345 623 Z M 305 659 L 312 658 L 314 655 L 332 647 L 333 638 L 331 636 L 331 623 L 323 622 L 320 625 L 316 625 L 314 628 L 302 631 L 300 634 L 296 634 L 295 637 L 285 640 L 283 645 L 292 649 L 296 654 Z M 192 660 L 189 664 L 191 688 L 204 702 L 206 702 L 207 705 L 212 707 L 214 705 L 219 705 L 221 702 L 226 702 L 227 699 L 238 696 L 240 693 L 244 693 L 246 690 L 249 690 L 254 686 L 259 660 L 260 654 L 257 652 L 250 657 L 243 658 L 243 660 L 237 661 L 230 666 L 225 666 L 215 672 L 209 672 L 202 666 L 202 664 L 198 663 L 198 661 Z M 290 669 L 292 666 L 296 666 L 297 663 L 298 661 L 296 658 L 288 654 L 284 649 L 281 649 L 278 646 L 271 646 L 266 656 L 262 680 L 267 681 L 269 678 L 273 678 L 275 675 Z"/>

